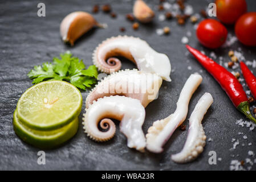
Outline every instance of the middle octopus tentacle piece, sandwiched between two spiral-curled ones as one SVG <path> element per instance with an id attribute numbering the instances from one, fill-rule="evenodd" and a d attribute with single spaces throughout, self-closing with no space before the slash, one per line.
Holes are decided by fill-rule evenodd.
<path id="1" fill-rule="evenodd" d="M 137 69 L 119 71 L 105 77 L 86 98 L 88 108 L 93 101 L 104 96 L 121 95 L 136 98 L 146 107 L 155 100 L 162 84 L 162 78 L 156 74 L 144 73 Z"/>

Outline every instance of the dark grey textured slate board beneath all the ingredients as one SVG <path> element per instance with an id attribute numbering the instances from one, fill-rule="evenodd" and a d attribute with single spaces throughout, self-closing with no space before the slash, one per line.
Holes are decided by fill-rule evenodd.
<path id="1" fill-rule="evenodd" d="M 46 4 L 46 17 L 37 16 L 37 5 L 39 2 Z M 176 20 L 158 20 L 158 1 L 147 1 L 156 10 L 157 16 L 153 23 L 140 25 L 139 30 L 133 31 L 131 23 L 125 19 L 125 14 L 131 13 L 132 1 L 0 1 L 0 169 L 91 169 L 91 170 L 229 170 L 231 160 L 245 160 L 254 157 L 249 156 L 249 150 L 256 152 L 256 133 L 250 131 L 248 127 L 241 127 L 235 121 L 242 118 L 232 105 L 220 85 L 209 75 L 200 64 L 190 55 L 186 55 L 184 44 L 181 43 L 182 36 L 187 31 L 192 32 L 189 44 L 200 50 L 204 50 L 207 55 L 210 50 L 202 47 L 196 39 L 193 24 L 186 23 L 185 26 L 177 26 Z M 188 1 L 193 5 L 194 11 L 199 12 L 211 1 Z M 117 18 L 112 19 L 104 13 L 95 14 L 95 18 L 101 23 L 107 23 L 107 29 L 94 29 L 84 35 L 74 47 L 63 44 L 59 35 L 60 21 L 72 11 L 91 12 L 94 4 L 110 3 Z M 247 1 L 249 11 L 256 10 L 254 0 Z M 162 14 L 162 13 L 161 13 Z M 171 34 L 159 36 L 156 28 L 169 26 Z M 121 33 L 119 27 L 125 27 L 127 31 Z M 229 26 L 229 31 L 234 35 L 233 27 Z M 13 131 L 12 119 L 19 97 L 27 88 L 32 86 L 27 73 L 34 65 L 51 61 L 52 57 L 59 53 L 70 50 L 75 56 L 83 59 L 86 65 L 92 64 L 92 51 L 97 44 L 106 38 L 117 35 L 138 36 L 146 40 L 156 51 L 166 53 L 169 56 L 172 69 L 172 82 L 164 81 L 159 98 L 153 101 L 146 108 L 146 119 L 143 125 L 144 133 L 149 126 L 157 119 L 165 118 L 173 113 L 176 108 L 179 93 L 186 79 L 193 72 L 201 72 L 204 78 L 202 84 L 194 93 L 189 104 L 189 115 L 192 113 L 198 99 L 205 92 L 210 92 L 214 98 L 214 103 L 205 115 L 203 126 L 206 136 L 212 141 L 206 142 L 205 150 L 192 163 L 176 164 L 170 160 L 170 155 L 182 149 L 185 143 L 186 131 L 176 130 L 162 154 L 151 154 L 150 152 L 140 153 L 127 147 L 126 138 L 117 129 L 115 137 L 105 143 L 96 143 L 90 140 L 83 133 L 82 113 L 79 116 L 78 133 L 55 150 L 47 150 L 46 165 L 38 165 L 38 148 L 26 144 L 15 135 Z M 241 48 L 246 60 L 253 60 L 256 57 L 255 48 L 247 48 L 236 42 L 231 48 L 216 49 L 217 56 L 223 56 L 224 62 L 229 60 L 227 52 L 229 49 Z M 192 67 L 192 70 L 188 69 Z M 124 61 L 122 69 L 135 68 L 135 65 Z M 230 70 L 231 71 L 231 70 Z M 253 69 L 256 73 L 256 69 Z M 246 88 L 247 89 L 247 88 Z M 82 91 L 83 100 L 86 100 L 87 92 Z M 188 125 L 188 119 L 184 122 Z M 118 122 L 116 123 L 118 124 Z M 118 127 L 117 127 L 118 128 Z M 243 135 L 247 136 L 243 139 Z M 234 151 L 231 139 L 239 139 L 240 144 Z M 252 145 L 249 146 L 248 143 Z M 242 146 L 242 143 L 245 146 Z M 209 151 L 216 151 L 216 165 L 208 163 Z M 234 157 L 233 157 L 234 155 Z M 250 166 L 245 164 L 245 167 Z M 256 164 L 251 169 L 256 169 Z"/>

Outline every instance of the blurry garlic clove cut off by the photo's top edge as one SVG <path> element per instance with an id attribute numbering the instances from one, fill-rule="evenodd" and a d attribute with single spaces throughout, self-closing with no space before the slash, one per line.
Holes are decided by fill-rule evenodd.
<path id="1" fill-rule="evenodd" d="M 133 15 L 142 23 L 149 23 L 155 16 L 154 11 L 142 0 L 136 0 L 133 5 Z"/>

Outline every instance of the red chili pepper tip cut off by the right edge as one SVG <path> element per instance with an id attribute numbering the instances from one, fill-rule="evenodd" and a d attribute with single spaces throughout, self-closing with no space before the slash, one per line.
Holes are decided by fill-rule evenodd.
<path id="1" fill-rule="evenodd" d="M 251 90 L 251 94 L 253 94 L 253 97 L 256 98 L 256 77 L 253 75 L 253 73 L 251 73 L 250 69 L 242 61 L 240 62 L 240 67 L 246 84 Z"/>

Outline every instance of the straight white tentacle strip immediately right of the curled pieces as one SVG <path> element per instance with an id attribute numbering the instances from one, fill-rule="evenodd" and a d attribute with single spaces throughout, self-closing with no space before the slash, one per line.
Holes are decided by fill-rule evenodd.
<path id="1" fill-rule="evenodd" d="M 165 119 L 155 121 L 153 126 L 149 127 L 148 134 L 146 135 L 147 149 L 149 151 L 155 153 L 163 151 L 162 146 L 168 141 L 174 130 L 185 121 L 190 98 L 201 82 L 202 76 L 198 73 L 190 75 L 181 90 L 174 113 Z"/>

